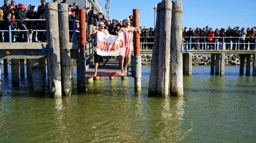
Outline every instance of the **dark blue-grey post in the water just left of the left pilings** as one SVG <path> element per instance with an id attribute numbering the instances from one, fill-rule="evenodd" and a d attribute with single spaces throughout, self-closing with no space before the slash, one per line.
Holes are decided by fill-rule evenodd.
<path id="1" fill-rule="evenodd" d="M 40 59 L 32 59 L 32 71 L 34 91 L 44 93 L 44 69 Z"/>

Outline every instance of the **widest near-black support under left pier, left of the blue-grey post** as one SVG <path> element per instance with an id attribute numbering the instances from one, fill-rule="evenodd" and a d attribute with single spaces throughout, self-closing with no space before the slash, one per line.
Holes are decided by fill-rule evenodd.
<path id="1" fill-rule="evenodd" d="M 12 83 L 19 84 L 19 60 L 11 59 Z"/>

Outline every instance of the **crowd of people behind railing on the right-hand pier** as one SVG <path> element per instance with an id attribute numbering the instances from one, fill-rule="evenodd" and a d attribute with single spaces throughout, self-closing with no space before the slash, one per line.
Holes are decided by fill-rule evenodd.
<path id="1" fill-rule="evenodd" d="M 226 50 L 255 50 L 256 43 L 256 27 L 245 28 L 240 30 L 240 27 L 231 26 L 227 30 L 224 28 L 215 29 L 208 28 L 208 26 L 201 28 L 192 29 L 185 27 L 183 29 L 182 37 L 184 47 L 193 50 L 223 50 L 223 43 L 225 42 Z M 223 39 L 223 37 L 225 37 Z M 191 43 L 191 44 L 190 44 Z M 190 47 L 191 45 L 191 47 Z M 231 47 L 232 46 L 232 47 Z"/>

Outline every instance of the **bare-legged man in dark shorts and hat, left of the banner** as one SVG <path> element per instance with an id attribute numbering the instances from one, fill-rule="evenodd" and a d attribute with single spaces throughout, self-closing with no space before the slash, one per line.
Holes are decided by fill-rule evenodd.
<path id="1" fill-rule="evenodd" d="M 98 23 L 98 30 L 94 30 L 93 33 L 90 35 L 90 38 L 94 38 L 94 46 L 97 47 L 99 46 L 99 44 L 101 44 L 99 41 L 100 39 L 105 40 L 106 39 L 106 35 L 109 34 L 108 30 L 104 29 L 106 25 L 104 24 L 104 22 L 99 22 Z M 98 34 L 101 33 L 103 34 L 103 37 L 99 37 Z M 106 45 L 106 44 L 105 44 Z M 103 55 L 104 56 L 104 55 Z M 103 60 L 103 57 L 101 55 L 97 54 L 97 51 L 94 52 L 94 75 L 93 76 L 97 76 L 97 69 L 99 64 L 101 64 Z"/>

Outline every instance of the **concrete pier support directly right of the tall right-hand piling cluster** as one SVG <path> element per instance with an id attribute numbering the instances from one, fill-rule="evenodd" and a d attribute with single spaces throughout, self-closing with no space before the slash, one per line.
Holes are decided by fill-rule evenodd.
<path id="1" fill-rule="evenodd" d="M 192 75 L 192 54 L 183 54 L 183 74 Z"/>

